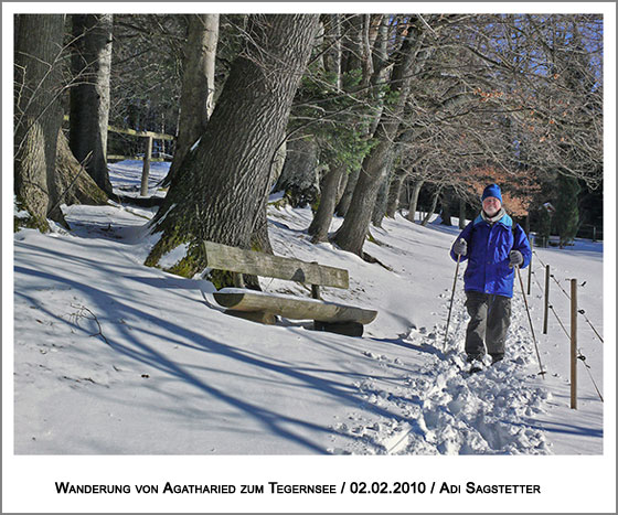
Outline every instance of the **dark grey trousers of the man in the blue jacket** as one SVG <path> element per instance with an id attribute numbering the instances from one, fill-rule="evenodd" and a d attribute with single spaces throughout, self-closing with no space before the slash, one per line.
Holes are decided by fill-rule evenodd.
<path id="1" fill-rule="evenodd" d="M 487 345 L 488 354 L 493 360 L 501 360 L 511 323 L 511 299 L 478 291 L 467 291 L 466 297 L 470 315 L 466 331 L 466 353 L 469 356 L 482 356 Z"/>

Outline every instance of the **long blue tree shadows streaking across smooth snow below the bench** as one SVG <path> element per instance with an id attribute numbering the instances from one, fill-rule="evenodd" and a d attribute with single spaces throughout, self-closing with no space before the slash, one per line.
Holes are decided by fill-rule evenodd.
<path id="1" fill-rule="evenodd" d="M 55 254 L 57 254 L 55 259 L 64 259 L 68 261 L 70 265 L 76 259 L 75 256 L 63 255 L 62 253 Z M 88 261 L 85 258 L 78 259 L 83 262 Z M 92 261 L 92 266 L 97 266 L 99 270 L 102 268 L 100 262 L 95 262 L 94 260 Z M 60 265 L 58 270 L 62 269 L 71 270 L 72 267 Z M 255 353 L 253 353 L 252 355 L 246 351 L 238 350 L 226 343 L 217 342 L 201 334 L 198 331 L 193 331 L 189 328 L 182 326 L 175 323 L 173 320 L 164 319 L 162 316 L 153 316 L 152 313 L 136 308 L 134 299 L 131 299 L 130 296 L 127 296 L 125 299 L 122 299 L 120 293 L 122 290 L 130 291 L 130 287 L 128 289 L 126 286 L 115 288 L 113 285 L 115 278 L 122 279 L 124 281 L 135 280 L 142 285 L 146 283 L 148 286 L 152 286 L 153 288 L 160 288 L 162 285 L 159 283 L 159 280 L 157 279 L 151 280 L 150 278 L 132 278 L 120 276 L 117 273 L 117 270 L 114 269 L 110 269 L 109 271 L 110 283 L 106 285 L 106 287 L 110 291 L 114 291 L 114 293 L 104 291 L 103 289 L 95 286 L 86 285 L 84 282 L 81 282 L 79 280 L 60 277 L 57 275 L 40 269 L 22 266 L 14 267 L 15 280 L 18 276 L 22 273 L 31 277 L 36 277 L 47 283 L 51 282 L 52 285 L 58 285 L 58 289 L 71 288 L 75 290 L 75 292 L 81 292 L 85 298 L 89 299 L 89 302 L 92 302 L 92 311 L 99 314 L 99 322 L 102 323 L 103 331 L 105 332 L 106 325 L 109 329 L 108 324 L 114 324 L 114 329 L 121 334 L 120 337 L 106 337 L 107 344 L 115 352 L 137 363 L 153 367 L 173 378 L 191 385 L 201 394 L 205 394 L 209 397 L 225 403 L 226 405 L 244 412 L 246 416 L 255 419 L 267 433 L 279 436 L 280 438 L 294 442 L 312 453 L 320 454 L 328 453 L 323 448 L 323 444 L 311 441 L 311 439 L 307 436 L 302 436 L 301 431 L 310 430 L 323 434 L 347 438 L 350 440 L 358 440 L 360 438 L 352 434 L 342 434 L 330 427 L 323 427 L 307 419 L 286 416 L 277 412 L 274 407 L 265 406 L 257 403 L 251 403 L 242 397 L 233 396 L 222 390 L 221 388 L 209 384 L 204 377 L 200 377 L 199 375 L 192 373 L 189 368 L 190 366 L 194 366 L 194 363 L 192 363 L 190 366 L 183 366 L 170 360 L 161 352 L 158 352 L 152 345 L 148 345 L 145 342 L 147 342 L 150 337 L 157 337 L 160 340 L 162 337 L 162 334 L 164 334 L 164 337 L 170 345 L 175 344 L 179 346 L 185 346 L 189 348 L 202 351 L 206 353 L 205 360 L 207 358 L 209 354 L 214 353 L 249 365 L 255 369 L 255 377 L 259 376 L 259 371 L 268 371 L 270 373 L 275 373 L 276 376 L 280 377 L 281 384 L 294 379 L 295 382 L 299 382 L 301 383 L 301 385 L 305 385 L 305 387 L 319 390 L 321 393 L 320 395 L 333 397 L 340 403 L 344 403 L 350 406 L 364 405 L 364 400 L 359 396 L 359 393 L 355 393 L 348 383 L 335 379 L 326 379 L 323 377 L 319 377 L 317 374 L 312 374 L 313 371 L 307 371 L 302 369 L 301 367 L 291 366 L 289 364 L 268 361 L 268 358 L 260 357 Z M 185 281 L 189 280 L 169 280 L 168 278 L 160 280 L 166 283 L 168 283 L 169 281 L 168 286 L 171 285 L 171 287 L 174 289 L 188 289 L 188 287 L 185 286 Z M 36 301 L 26 293 L 18 292 L 17 294 L 21 296 L 30 302 L 36 303 Z M 60 314 L 54 313 L 49 309 L 44 309 L 41 305 L 38 305 L 38 308 L 45 311 L 51 318 L 55 318 L 56 320 L 65 324 L 73 325 L 75 329 L 84 331 L 78 325 L 67 322 Z M 103 316 L 100 315 L 102 313 L 104 314 Z M 118 322 L 121 319 L 131 318 L 147 321 L 153 326 L 152 330 L 148 330 L 145 328 L 130 328 L 128 324 Z M 319 372 L 322 375 L 328 373 L 334 375 L 339 374 L 338 371 L 316 369 L 315 372 Z M 349 374 L 347 374 L 345 376 L 349 377 Z M 163 391 L 161 394 L 172 395 L 168 391 Z M 388 418 L 394 417 L 393 414 L 377 406 L 371 406 L 367 408 L 377 415 L 382 415 Z M 238 438 L 243 437 L 239 436 Z"/>

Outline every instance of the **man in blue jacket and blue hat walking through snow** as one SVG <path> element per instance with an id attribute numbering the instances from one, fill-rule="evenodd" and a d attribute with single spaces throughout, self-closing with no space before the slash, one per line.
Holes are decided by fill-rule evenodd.
<path id="1" fill-rule="evenodd" d="M 468 260 L 464 275 L 466 309 L 470 322 L 466 331 L 466 354 L 472 372 L 504 356 L 507 331 L 511 323 L 514 267 L 525 268 L 532 250 L 528 236 L 502 207 L 498 184 L 482 193 L 482 211 L 452 245 L 450 256 Z M 486 352 L 487 351 L 487 352 Z"/>

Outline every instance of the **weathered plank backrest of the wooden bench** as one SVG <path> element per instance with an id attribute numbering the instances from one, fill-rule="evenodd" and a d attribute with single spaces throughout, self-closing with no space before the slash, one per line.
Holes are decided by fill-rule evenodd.
<path id="1" fill-rule="evenodd" d="M 349 288 L 348 270 L 327 267 L 317 262 L 273 256 L 244 250 L 237 247 L 204 242 L 206 266 L 215 270 L 227 270 L 260 277 L 274 277 L 306 285 Z"/>

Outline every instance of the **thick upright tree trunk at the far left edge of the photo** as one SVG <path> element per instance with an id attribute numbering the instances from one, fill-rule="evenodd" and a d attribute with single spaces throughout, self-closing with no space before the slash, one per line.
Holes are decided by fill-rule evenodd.
<path id="1" fill-rule="evenodd" d="M 61 52 L 64 14 L 15 15 L 14 193 L 31 214 L 31 226 L 49 228 L 46 218 L 64 223 L 54 181 L 62 125 Z"/>

